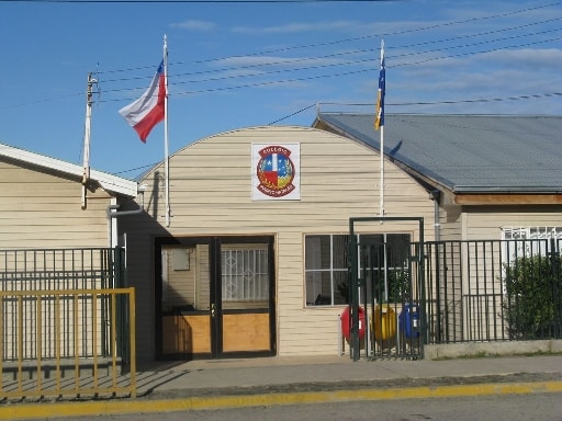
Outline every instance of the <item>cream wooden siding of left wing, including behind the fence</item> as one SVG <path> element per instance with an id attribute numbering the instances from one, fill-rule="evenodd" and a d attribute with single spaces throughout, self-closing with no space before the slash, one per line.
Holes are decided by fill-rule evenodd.
<path id="1" fill-rule="evenodd" d="M 109 246 L 106 207 L 110 196 L 99 190 L 88 192 L 88 207 L 81 209 L 82 185 L 80 180 L 69 180 L 55 175 L 47 170 L 38 170 L 0 160 L 0 249 L 70 249 L 70 248 L 104 248 Z M 33 254 L 23 258 L 22 253 L 2 254 L 0 281 L 2 289 L 44 291 L 53 288 L 54 280 L 60 288 L 101 287 L 99 282 L 92 280 L 65 280 L 60 271 L 69 271 L 69 261 L 72 261 L 78 276 L 82 276 L 80 269 L 89 268 L 100 270 L 102 263 L 100 254 L 74 253 L 68 262 L 63 262 L 56 252 L 47 253 L 41 258 Z M 70 254 L 69 254 L 70 255 Z M 60 259 L 60 260 L 59 260 Z M 83 260 L 81 260 L 83 259 Z M 29 275 L 26 272 L 37 272 Z M 76 283 L 74 282 L 76 281 Z M 63 298 L 59 303 L 61 319 L 87 320 L 83 326 L 72 330 L 72 323 L 63 323 L 59 343 L 64 356 L 100 354 L 102 349 L 102 300 L 105 298 L 80 298 L 76 303 Z M 76 304 L 76 308 L 75 308 Z M 14 323 L 19 315 L 19 306 L 25 318 L 34 320 L 37 312 L 41 317 L 41 329 L 34 323 L 26 322 L 23 339 L 19 332 L 9 331 L 7 341 L 18 343 L 21 339 L 23 351 L 16 346 L 7 346 L 4 357 L 13 359 L 16 352 L 23 352 L 23 357 L 36 357 L 36 335 L 54 334 L 56 307 L 54 300 L 44 300 L 40 304 L 34 299 L 23 299 L 21 303 L 9 300 L 4 305 L 4 323 Z M 95 323 L 93 322 L 95 321 Z M 78 338 L 74 341 L 74 335 Z M 94 340 L 95 338 L 95 340 Z M 75 349 L 79 343 L 79 349 Z M 97 344 L 97 349 L 93 349 Z M 43 357 L 55 355 L 54 343 L 45 342 L 42 348 Z"/>

